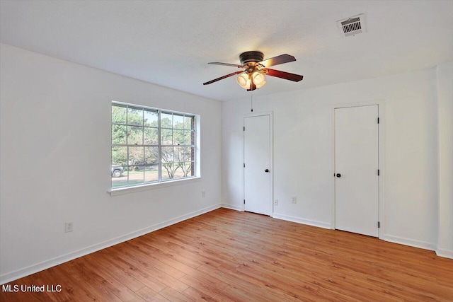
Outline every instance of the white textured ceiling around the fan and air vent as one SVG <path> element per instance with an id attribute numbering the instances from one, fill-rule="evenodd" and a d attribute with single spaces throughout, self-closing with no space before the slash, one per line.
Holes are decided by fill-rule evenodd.
<path id="1" fill-rule="evenodd" d="M 8 1 L 1 42 L 216 100 L 244 98 L 239 54 L 292 54 L 258 95 L 424 69 L 453 60 L 453 1 Z M 336 21 L 365 13 L 367 33 Z"/>

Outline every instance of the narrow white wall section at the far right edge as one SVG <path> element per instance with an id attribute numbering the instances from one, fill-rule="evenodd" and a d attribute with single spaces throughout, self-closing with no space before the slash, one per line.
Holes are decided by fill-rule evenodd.
<path id="1" fill-rule="evenodd" d="M 437 66 L 439 106 L 439 243 L 437 255 L 453 258 L 453 62 Z"/>

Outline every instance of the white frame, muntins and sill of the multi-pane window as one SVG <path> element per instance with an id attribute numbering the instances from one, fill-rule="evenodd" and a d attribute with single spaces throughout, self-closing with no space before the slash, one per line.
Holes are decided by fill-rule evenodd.
<path id="1" fill-rule="evenodd" d="M 141 109 L 141 110 L 151 110 L 151 111 L 155 111 L 158 113 L 158 126 L 157 126 L 158 142 L 156 145 L 152 145 L 152 146 L 158 146 L 158 148 L 159 148 L 159 163 L 158 163 L 159 178 L 155 182 L 144 182 L 144 183 L 140 183 L 140 184 L 125 185 L 125 186 L 120 186 L 120 187 L 112 187 L 112 182 L 110 179 L 110 190 L 108 191 L 108 193 L 110 193 L 111 196 L 117 195 L 117 194 L 126 194 L 129 192 L 156 189 L 159 187 L 168 187 L 171 185 L 179 185 L 182 183 L 185 184 L 188 182 L 195 182 L 195 181 L 200 180 L 200 178 L 201 178 L 201 176 L 200 176 L 200 115 L 196 115 L 196 114 L 189 113 L 189 112 L 178 112 L 175 110 L 152 108 L 149 106 L 137 105 L 137 104 L 132 104 L 132 103 L 117 102 L 114 100 L 110 103 L 110 112 L 114 105 L 119 105 L 119 106 L 125 107 L 125 108 L 137 108 L 137 109 Z M 161 144 L 161 129 L 170 129 L 170 128 L 166 128 L 166 127 L 161 127 L 161 114 L 183 115 L 183 116 L 193 117 L 194 127 L 193 127 L 193 130 L 191 130 L 191 131 L 193 131 L 194 144 L 181 145 L 181 146 L 193 147 L 193 149 L 194 149 L 195 154 L 194 154 L 193 166 L 192 166 L 193 175 L 185 176 L 183 178 L 171 178 L 171 179 L 164 179 L 162 177 L 162 174 L 164 173 L 164 163 L 162 161 L 162 152 L 161 152 L 162 147 L 180 146 L 180 145 L 163 145 L 163 144 Z M 111 113 L 110 113 L 110 119 L 111 119 Z M 111 137 L 111 135 L 112 135 L 111 128 L 112 128 L 113 124 L 117 124 L 117 123 L 113 123 L 113 121 L 110 120 L 110 163 L 112 163 L 112 148 L 113 147 L 115 147 L 115 146 L 128 146 L 128 147 L 137 146 L 137 145 L 130 145 L 130 144 L 113 144 L 112 137 Z M 125 125 L 127 126 L 127 122 Z M 146 126 L 144 126 L 144 125 L 142 125 L 142 127 L 146 128 Z M 171 129 L 175 129 L 175 128 L 173 128 L 173 125 L 172 125 Z M 138 145 L 138 146 L 145 147 L 145 146 L 151 146 L 151 145 L 144 144 L 144 141 L 142 141 L 142 145 Z M 128 155 L 129 155 L 129 153 L 128 153 Z M 127 160 L 129 161 L 129 158 L 127 158 Z M 146 164 L 143 163 L 143 165 L 146 165 Z M 130 166 L 130 163 L 128 162 L 127 167 L 129 167 L 129 166 Z M 123 167 L 123 168 L 127 168 L 127 167 Z"/>

